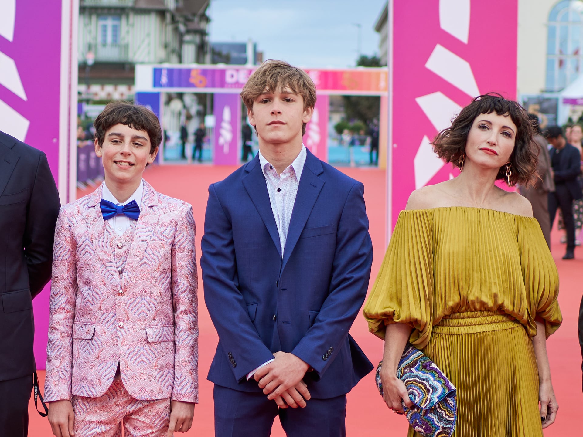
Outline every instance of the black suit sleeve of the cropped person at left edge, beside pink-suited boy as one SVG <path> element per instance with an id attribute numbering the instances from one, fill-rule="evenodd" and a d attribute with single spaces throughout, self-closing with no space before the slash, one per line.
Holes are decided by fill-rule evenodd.
<path id="1" fill-rule="evenodd" d="M 47 157 L 38 159 L 23 236 L 24 256 L 29 270 L 30 293 L 35 297 L 51 279 L 52 243 L 61 201 Z"/>

